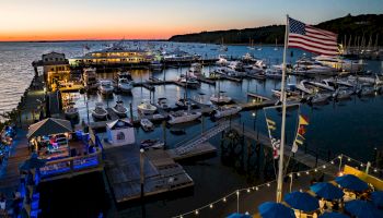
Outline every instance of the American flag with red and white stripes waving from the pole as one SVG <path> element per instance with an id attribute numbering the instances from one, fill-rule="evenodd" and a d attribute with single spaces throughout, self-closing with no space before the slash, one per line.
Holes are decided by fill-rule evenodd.
<path id="1" fill-rule="evenodd" d="M 317 55 L 338 53 L 337 35 L 289 17 L 289 48 L 300 48 Z"/>

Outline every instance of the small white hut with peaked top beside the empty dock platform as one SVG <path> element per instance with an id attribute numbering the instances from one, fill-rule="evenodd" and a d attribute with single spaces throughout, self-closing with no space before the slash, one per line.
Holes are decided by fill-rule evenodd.
<path id="1" fill-rule="evenodd" d="M 130 121 L 116 120 L 106 123 L 107 141 L 113 146 L 129 145 L 136 143 L 135 130 Z"/>

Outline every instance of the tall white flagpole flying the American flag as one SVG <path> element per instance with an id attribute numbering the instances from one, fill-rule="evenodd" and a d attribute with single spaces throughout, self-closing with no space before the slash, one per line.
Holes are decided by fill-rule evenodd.
<path id="1" fill-rule="evenodd" d="M 282 82 L 281 82 L 281 100 L 282 100 L 282 126 L 280 133 L 280 149 L 279 149 L 279 166 L 278 166 L 278 183 L 277 183 L 277 203 L 282 202 L 282 184 L 283 184 L 283 153 L 285 153 L 285 126 L 286 126 L 286 52 L 288 49 L 289 38 L 289 15 L 286 15 L 286 31 L 285 31 L 285 50 L 283 50 L 283 65 L 282 65 Z"/>

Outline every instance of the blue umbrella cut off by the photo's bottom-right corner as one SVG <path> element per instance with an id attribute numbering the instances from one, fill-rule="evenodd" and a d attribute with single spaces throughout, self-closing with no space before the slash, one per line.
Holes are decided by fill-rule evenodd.
<path id="1" fill-rule="evenodd" d="M 380 211 L 373 204 L 367 201 L 353 199 L 347 202 L 345 208 L 348 213 L 358 218 L 383 218 L 383 211 Z"/>

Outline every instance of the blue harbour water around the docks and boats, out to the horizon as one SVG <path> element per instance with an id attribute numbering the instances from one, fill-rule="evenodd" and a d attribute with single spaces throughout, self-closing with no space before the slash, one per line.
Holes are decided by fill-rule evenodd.
<path id="1" fill-rule="evenodd" d="M 67 57 L 79 56 L 83 53 L 82 46 L 85 43 L 1 43 L 0 44 L 0 113 L 12 110 L 19 100 L 24 89 L 31 83 L 34 75 L 31 62 L 39 59 L 43 53 L 49 51 L 65 52 Z M 91 44 L 92 49 L 101 49 L 103 43 L 86 43 Z M 138 43 L 129 43 L 131 46 Z M 141 43 L 143 44 L 143 43 Z M 181 47 L 184 50 L 200 53 L 206 57 L 217 57 L 218 51 L 211 50 L 216 47 L 212 45 L 199 45 L 199 44 L 169 44 L 156 43 L 156 47 L 167 47 L 167 49 L 176 49 Z M 241 57 L 247 52 L 245 46 L 229 46 L 228 56 Z M 282 50 L 274 50 L 274 47 L 264 47 L 262 51 L 253 51 L 258 58 L 267 59 L 271 63 L 280 63 L 282 57 Z M 302 56 L 299 50 L 293 50 L 294 56 L 288 58 L 288 62 L 293 62 L 297 58 Z M 289 53 L 290 55 L 290 53 Z M 369 61 L 368 68 L 374 72 L 381 71 L 381 63 L 376 61 Z M 131 71 L 135 81 L 144 81 L 149 76 L 155 76 L 159 78 L 172 80 L 176 78 L 181 73 L 187 69 L 169 69 L 165 72 L 151 73 L 146 70 Z M 204 69 L 205 72 L 209 71 L 209 68 Z M 112 78 L 114 75 L 111 73 L 100 73 L 100 77 Z M 289 83 L 293 83 L 295 78 L 289 77 Z M 271 96 L 271 88 L 279 88 L 280 83 L 278 81 L 259 82 L 256 80 L 244 80 L 243 83 L 235 83 L 229 81 L 221 82 L 221 90 L 225 90 L 227 95 L 231 96 L 239 101 L 247 101 L 247 92 L 258 93 L 265 96 Z M 200 90 L 188 90 L 188 96 L 196 96 L 198 93 L 204 93 L 206 96 L 210 96 L 216 93 L 217 87 L 202 84 Z M 184 88 L 175 85 L 156 86 L 155 99 L 159 97 L 166 97 L 170 105 L 174 105 L 176 99 L 184 96 Z M 105 105 L 108 102 L 113 106 L 117 99 L 124 100 L 128 106 L 132 102 L 134 113 L 137 113 L 136 106 L 140 104 L 142 99 L 149 99 L 150 93 L 146 88 L 136 87 L 132 89 L 132 95 L 113 95 L 112 98 L 105 99 L 96 94 L 86 96 L 86 100 L 90 102 L 89 108 L 92 109 L 96 101 L 103 101 Z M 81 118 L 86 120 L 86 108 L 84 104 L 84 96 L 79 96 L 77 106 L 80 108 Z M 381 133 L 383 131 L 383 96 L 379 95 L 370 98 L 352 97 L 351 100 L 341 102 L 330 102 L 325 106 L 310 107 L 302 105 L 300 111 L 309 117 L 310 125 L 307 126 L 307 133 L 305 135 L 305 143 L 309 149 L 330 149 L 333 154 L 344 153 L 355 159 L 363 161 L 371 160 L 373 156 L 373 148 L 383 149 L 383 138 Z M 233 119 L 233 122 L 244 122 L 246 126 L 253 128 L 256 123 L 256 129 L 266 133 L 265 125 L 265 112 L 264 110 L 257 111 L 256 118 L 252 116 L 255 111 L 244 111 L 241 117 Z M 280 112 L 266 111 L 267 116 L 275 121 L 280 120 Z M 295 125 L 297 125 L 297 110 L 289 111 L 288 126 L 287 126 L 287 140 L 292 141 Z M 92 117 L 90 117 L 92 119 Z M 214 123 L 209 118 L 205 119 L 205 128 L 212 126 Z M 167 131 L 167 144 L 172 147 L 183 140 L 187 140 L 198 134 L 201 131 L 201 124 L 195 122 L 193 124 L 182 125 L 186 130 L 186 135 L 172 135 L 169 129 Z M 158 125 L 156 130 L 150 133 L 144 133 L 141 129 L 137 129 L 137 141 L 143 138 L 161 138 L 163 129 Z M 278 136 L 278 134 L 276 135 Z M 220 137 L 216 136 L 210 141 L 213 145 L 218 146 Z M 218 146 L 218 157 L 198 161 L 196 164 L 184 165 L 185 170 L 194 179 L 196 185 L 194 194 L 187 196 L 178 196 L 176 199 L 164 196 L 162 201 L 149 203 L 147 205 L 148 217 L 169 217 L 177 215 L 179 211 L 187 211 L 201 206 L 202 204 L 214 201 L 222 195 L 232 192 L 239 187 L 247 186 L 249 181 L 246 175 L 237 173 L 232 167 L 225 166 L 221 161 L 220 148 Z M 95 180 L 100 180 L 98 177 L 94 177 Z M 79 182 L 77 183 L 76 181 Z M 93 180 L 93 179 L 92 179 Z M 68 208 L 68 217 L 95 217 L 97 211 L 109 202 L 105 197 L 103 185 L 86 185 L 89 178 L 79 178 L 74 182 L 68 183 L 53 183 L 47 190 L 61 190 L 57 191 L 57 195 L 49 195 L 49 199 L 45 205 L 50 210 L 59 208 L 57 205 L 62 203 L 63 197 L 69 196 L 78 199 L 73 204 L 81 204 L 82 199 L 89 199 L 89 203 L 82 203 L 83 207 L 78 206 Z M 256 183 L 260 182 L 260 179 L 255 180 Z M 77 189 L 69 189 L 71 184 L 79 184 Z M 62 187 L 68 185 L 68 187 Z M 92 193 L 92 194 L 90 194 Z M 92 201 L 90 201 L 92 199 Z M 97 199 L 97 201 L 94 201 Z M 101 206 L 98 203 L 103 203 Z M 96 204 L 96 206 L 94 206 Z M 92 205 L 94 207 L 92 207 Z M 68 206 L 68 205 L 66 205 Z M 89 214 L 89 208 L 93 208 Z M 109 207 L 108 207 L 109 208 Z M 111 209 L 115 211 L 115 209 Z M 74 214 L 73 214 L 74 213 Z M 120 217 L 140 217 L 140 207 L 125 207 L 119 210 Z M 159 216 L 160 215 L 160 216 Z M 49 216 L 48 216 L 49 217 Z"/>

